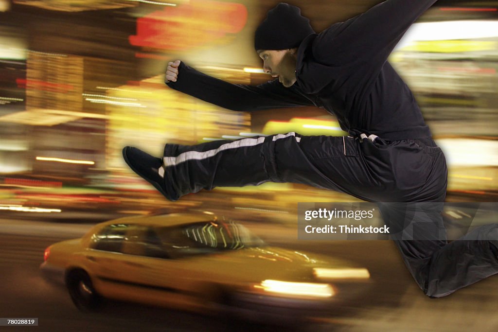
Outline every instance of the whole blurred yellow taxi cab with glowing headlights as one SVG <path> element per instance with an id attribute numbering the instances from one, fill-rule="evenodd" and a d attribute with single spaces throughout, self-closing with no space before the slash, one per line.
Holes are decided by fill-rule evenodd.
<path id="1" fill-rule="evenodd" d="M 80 310 L 114 299 L 261 317 L 315 317 L 370 278 L 345 261 L 268 246 L 242 224 L 209 214 L 99 223 L 50 245 L 40 268 L 66 285 Z"/>

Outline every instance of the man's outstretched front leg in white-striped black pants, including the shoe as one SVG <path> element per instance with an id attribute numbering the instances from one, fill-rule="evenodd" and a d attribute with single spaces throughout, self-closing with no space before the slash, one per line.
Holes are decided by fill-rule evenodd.
<path id="1" fill-rule="evenodd" d="M 346 152 L 345 152 L 346 151 Z M 125 147 L 130 168 L 167 199 L 215 187 L 243 187 L 267 181 L 302 183 L 356 197 L 371 193 L 368 167 L 353 138 L 300 136 L 294 132 L 220 140 L 197 145 L 166 144 L 164 157 L 154 158 Z"/>

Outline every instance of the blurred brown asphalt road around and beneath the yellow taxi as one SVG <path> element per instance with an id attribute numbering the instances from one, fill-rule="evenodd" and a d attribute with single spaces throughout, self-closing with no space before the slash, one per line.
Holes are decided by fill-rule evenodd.
<path id="1" fill-rule="evenodd" d="M 253 230 L 271 244 L 365 265 L 372 274 L 371 291 L 345 303 L 335 317 L 284 329 L 126 303 L 110 303 L 97 314 L 81 313 L 64 289 L 41 278 L 38 266 L 45 247 L 80 236 L 90 226 L 0 220 L 0 318 L 39 318 L 38 327 L 0 331 L 498 331 L 498 277 L 432 300 L 412 282 L 390 241 L 297 241 L 293 229 L 257 225 Z"/>

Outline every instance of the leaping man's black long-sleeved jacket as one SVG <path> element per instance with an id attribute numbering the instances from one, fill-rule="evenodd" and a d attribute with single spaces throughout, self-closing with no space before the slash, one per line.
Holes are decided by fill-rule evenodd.
<path id="1" fill-rule="evenodd" d="M 408 27 L 436 0 L 387 0 L 306 37 L 297 53 L 297 82 L 234 85 L 185 65 L 167 85 L 233 111 L 317 106 L 352 135 L 385 140 L 430 137 L 410 89 L 387 62 Z"/>

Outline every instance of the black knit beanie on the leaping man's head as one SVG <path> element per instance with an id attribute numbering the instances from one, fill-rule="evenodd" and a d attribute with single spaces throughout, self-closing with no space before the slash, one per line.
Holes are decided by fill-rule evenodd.
<path id="1" fill-rule="evenodd" d="M 254 35 L 256 50 L 284 50 L 299 46 L 304 38 L 315 33 L 301 9 L 285 2 L 268 11 Z"/>

